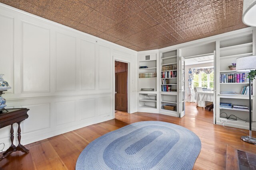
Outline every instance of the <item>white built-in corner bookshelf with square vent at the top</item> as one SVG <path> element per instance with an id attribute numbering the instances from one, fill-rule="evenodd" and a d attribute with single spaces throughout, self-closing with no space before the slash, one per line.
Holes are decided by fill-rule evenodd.
<path id="1" fill-rule="evenodd" d="M 138 111 L 157 109 L 156 54 L 140 55 L 138 57 L 138 103 Z"/>

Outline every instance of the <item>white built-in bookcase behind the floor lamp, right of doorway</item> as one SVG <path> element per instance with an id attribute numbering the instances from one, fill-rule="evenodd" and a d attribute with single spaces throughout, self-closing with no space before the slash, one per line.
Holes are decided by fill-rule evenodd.
<path id="1" fill-rule="evenodd" d="M 244 33 L 244 35 L 233 36 L 232 38 L 220 39 L 219 41 L 219 53 L 216 55 L 216 123 L 231 127 L 238 127 L 242 129 L 249 128 L 249 111 L 243 109 L 234 108 L 223 108 L 220 107 L 220 102 L 232 103 L 238 105 L 249 106 L 249 95 L 241 95 L 240 92 L 244 86 L 249 86 L 249 80 L 246 79 L 242 83 L 223 83 L 220 80 L 220 74 L 239 74 L 241 72 L 236 72 L 236 70 L 229 70 L 228 66 L 232 63 L 236 63 L 238 57 L 244 57 L 253 55 L 253 34 L 252 31 Z M 218 49 L 217 49 L 218 50 Z M 256 121 L 256 99 L 255 99 L 255 81 L 252 83 L 253 94 L 252 94 L 252 120 Z M 237 92 L 239 94 L 221 94 L 221 92 Z M 223 113 L 224 112 L 224 113 Z M 228 116 L 235 115 L 240 119 L 236 121 L 226 119 L 226 114 Z M 235 118 L 235 117 L 232 117 Z M 243 121 L 243 120 L 246 121 Z M 255 127 L 255 126 L 254 126 Z M 254 129 L 255 130 L 255 129 Z"/>

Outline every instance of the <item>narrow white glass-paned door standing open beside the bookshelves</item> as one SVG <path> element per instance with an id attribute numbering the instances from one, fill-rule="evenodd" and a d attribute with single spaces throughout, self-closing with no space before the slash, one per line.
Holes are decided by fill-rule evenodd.
<path id="1" fill-rule="evenodd" d="M 185 115 L 185 59 L 180 57 L 180 117 Z"/>

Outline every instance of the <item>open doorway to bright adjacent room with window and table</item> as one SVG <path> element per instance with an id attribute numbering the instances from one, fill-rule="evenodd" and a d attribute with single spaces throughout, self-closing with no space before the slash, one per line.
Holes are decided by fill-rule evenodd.
<path id="1" fill-rule="evenodd" d="M 192 116 L 213 117 L 214 53 L 185 57 L 185 91 L 185 111 L 194 106 L 195 111 L 189 112 Z"/>

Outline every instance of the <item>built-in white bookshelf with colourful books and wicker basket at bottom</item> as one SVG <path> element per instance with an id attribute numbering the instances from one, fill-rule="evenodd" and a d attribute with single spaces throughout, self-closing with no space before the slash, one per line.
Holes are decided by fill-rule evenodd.
<path id="1" fill-rule="evenodd" d="M 178 102 L 178 57 L 177 50 L 160 54 L 160 113 L 177 115 Z M 164 106 L 175 106 L 167 110 Z"/>

